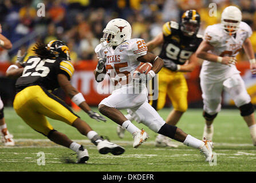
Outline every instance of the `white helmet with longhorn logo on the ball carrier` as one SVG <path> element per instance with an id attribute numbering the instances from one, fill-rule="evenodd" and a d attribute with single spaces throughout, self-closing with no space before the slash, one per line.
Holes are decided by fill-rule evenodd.
<path id="1" fill-rule="evenodd" d="M 117 46 L 131 39 L 132 27 L 124 19 L 116 18 L 108 22 L 103 33 L 103 38 L 100 39 L 103 46 Z M 104 43 L 105 41 L 107 44 Z"/>

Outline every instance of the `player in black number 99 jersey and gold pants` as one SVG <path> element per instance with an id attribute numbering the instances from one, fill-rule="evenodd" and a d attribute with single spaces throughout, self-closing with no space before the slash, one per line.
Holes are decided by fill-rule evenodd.
<path id="1" fill-rule="evenodd" d="M 159 96 L 157 100 L 149 103 L 156 110 L 160 110 L 166 104 L 166 95 L 170 98 L 174 110 L 166 119 L 167 124 L 176 125 L 186 112 L 187 105 L 187 82 L 184 72 L 194 70 L 197 58 L 195 51 L 202 42 L 202 36 L 198 35 L 200 27 L 200 15 L 196 10 L 187 10 L 182 15 L 182 22 L 166 22 L 163 25 L 162 33 L 159 33 L 152 41 L 146 45 L 148 51 L 152 51 L 157 46 L 162 46 L 159 57 L 164 60 L 164 67 L 159 71 Z M 136 114 L 128 110 L 127 117 L 140 121 Z M 117 133 L 121 134 L 122 129 Z M 121 135 L 122 136 L 122 135 Z M 170 138 L 162 135 L 157 136 L 157 146 L 176 146 L 169 142 Z"/>

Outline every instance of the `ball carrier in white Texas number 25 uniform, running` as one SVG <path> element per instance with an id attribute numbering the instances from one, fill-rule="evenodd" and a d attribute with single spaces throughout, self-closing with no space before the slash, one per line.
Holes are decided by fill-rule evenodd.
<path id="1" fill-rule="evenodd" d="M 112 19 L 103 33 L 101 43 L 95 48 L 99 58 L 94 71 L 95 78 L 97 82 L 101 82 L 107 73 L 112 84 L 119 85 L 119 87 L 115 87 L 111 96 L 100 102 L 100 113 L 123 126 L 133 135 L 133 148 L 138 148 L 147 140 L 148 134 L 133 125 L 119 109 L 131 109 L 140 116 L 141 122 L 154 132 L 183 142 L 184 145 L 200 149 L 206 156 L 206 161 L 211 161 L 211 141 L 198 140 L 176 126 L 166 124 L 156 110 L 148 104 L 145 80 L 146 78 L 152 79 L 155 73 L 158 73 L 164 65 L 163 60 L 147 52 L 147 46 L 143 39 L 131 39 L 131 25 L 124 19 Z M 140 62 L 152 63 L 152 69 L 148 74 L 134 73 Z"/>

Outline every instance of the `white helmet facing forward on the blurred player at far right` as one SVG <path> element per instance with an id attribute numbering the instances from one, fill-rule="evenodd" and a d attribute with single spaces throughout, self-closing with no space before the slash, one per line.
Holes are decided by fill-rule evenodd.
<path id="1" fill-rule="evenodd" d="M 233 22 L 231 22 L 233 21 Z M 226 7 L 221 15 L 222 28 L 230 34 L 234 34 L 239 29 L 242 21 L 242 13 L 235 6 Z"/>

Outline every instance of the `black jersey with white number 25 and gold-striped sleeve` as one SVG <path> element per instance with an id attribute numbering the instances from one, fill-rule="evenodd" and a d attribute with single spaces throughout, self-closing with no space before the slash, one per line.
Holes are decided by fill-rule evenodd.
<path id="1" fill-rule="evenodd" d="M 17 92 L 28 86 L 39 85 L 46 90 L 53 91 L 60 87 L 57 75 L 65 74 L 70 80 L 74 73 L 74 67 L 70 61 L 63 58 L 41 59 L 31 56 L 24 63 L 24 70 L 15 83 Z"/>

